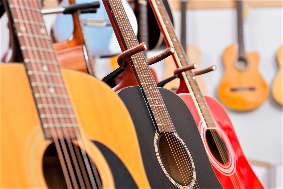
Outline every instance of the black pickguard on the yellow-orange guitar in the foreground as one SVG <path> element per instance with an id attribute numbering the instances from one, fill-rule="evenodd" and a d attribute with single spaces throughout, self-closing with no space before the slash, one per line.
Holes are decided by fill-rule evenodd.
<path id="1" fill-rule="evenodd" d="M 108 147 L 98 141 L 93 141 L 93 143 L 101 151 L 110 167 L 114 178 L 115 189 L 138 188 L 128 169 L 125 167 L 123 162 L 116 156 L 116 154 L 114 154 Z"/>

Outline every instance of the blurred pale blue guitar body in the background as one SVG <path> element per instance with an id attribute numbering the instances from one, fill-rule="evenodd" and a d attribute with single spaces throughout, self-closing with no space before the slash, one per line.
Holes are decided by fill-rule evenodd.
<path id="1" fill-rule="evenodd" d="M 102 6 L 102 0 L 100 2 L 100 8 L 97 9 L 97 13 L 85 13 L 81 17 L 85 24 L 85 33 L 89 41 L 89 47 L 93 56 L 113 56 L 121 53 L 118 41 L 115 37 L 114 31 L 110 24 L 109 18 L 106 14 L 105 8 Z M 77 3 L 91 3 L 90 0 L 77 0 Z M 63 6 L 69 5 L 68 1 L 65 1 Z M 132 11 L 132 8 L 123 0 L 123 6 L 134 31 L 137 32 L 137 21 Z M 104 22 L 104 23 L 103 23 Z M 109 23 L 108 23 L 109 22 Z M 98 26 L 95 26 L 98 23 Z M 103 25 L 106 24 L 106 25 Z M 53 27 L 53 35 L 57 41 L 64 41 L 68 39 L 73 33 L 73 20 L 71 15 L 58 14 L 56 22 Z M 103 37 L 97 37 L 103 36 Z"/>

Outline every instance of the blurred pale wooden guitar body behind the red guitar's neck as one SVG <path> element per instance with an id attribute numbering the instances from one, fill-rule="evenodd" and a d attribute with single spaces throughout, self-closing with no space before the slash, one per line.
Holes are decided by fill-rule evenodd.
<path id="1" fill-rule="evenodd" d="M 191 63 L 196 63 L 197 68 L 198 68 L 200 66 L 200 61 L 201 61 L 200 50 L 198 50 L 198 48 L 196 46 L 193 46 L 193 45 L 187 45 L 186 49 L 187 49 L 186 54 L 187 54 L 188 59 L 190 60 Z M 175 65 L 175 62 L 173 60 L 173 56 L 166 58 L 164 61 L 165 61 L 165 65 L 166 65 L 166 71 L 163 75 L 162 80 L 173 76 L 173 72 L 176 69 L 176 65 Z M 197 69 L 195 69 L 195 70 L 197 70 Z M 204 80 L 201 77 L 201 75 L 196 76 L 196 80 L 198 81 L 198 85 L 200 86 L 201 91 L 203 91 L 204 94 L 207 94 L 207 89 L 206 89 Z M 177 91 L 179 85 L 180 85 L 179 80 L 172 80 L 172 81 L 166 83 L 166 85 L 164 85 L 164 88 L 170 89 L 171 91 Z"/>

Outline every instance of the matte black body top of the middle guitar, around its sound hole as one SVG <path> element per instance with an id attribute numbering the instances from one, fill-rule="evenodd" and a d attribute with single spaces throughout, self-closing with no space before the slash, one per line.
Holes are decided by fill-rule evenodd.
<path id="1" fill-rule="evenodd" d="M 183 139 L 196 168 L 199 188 L 222 188 L 207 157 L 200 133 L 185 102 L 168 89 L 159 88 L 176 133 Z M 126 87 L 118 92 L 136 129 L 149 183 L 152 188 L 177 188 L 164 174 L 155 153 L 154 136 L 156 128 L 139 86 Z M 198 188 L 198 187 L 196 187 Z"/>

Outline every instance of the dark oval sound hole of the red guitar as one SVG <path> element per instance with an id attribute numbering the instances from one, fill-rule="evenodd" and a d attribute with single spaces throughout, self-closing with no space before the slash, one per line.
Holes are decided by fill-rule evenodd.
<path id="1" fill-rule="evenodd" d="M 206 140 L 213 156 L 222 164 L 228 163 L 228 151 L 223 139 L 215 130 L 206 131 Z"/>

